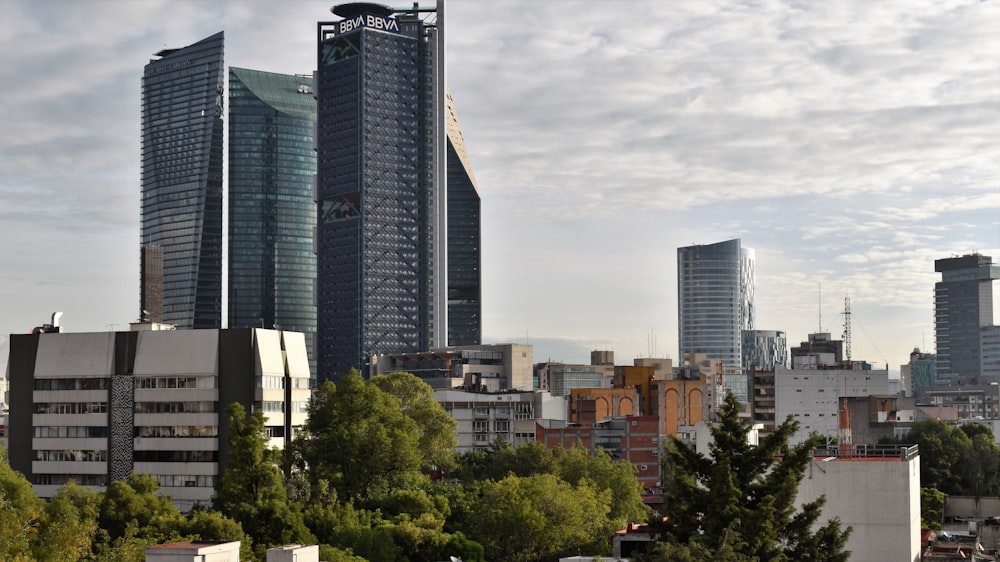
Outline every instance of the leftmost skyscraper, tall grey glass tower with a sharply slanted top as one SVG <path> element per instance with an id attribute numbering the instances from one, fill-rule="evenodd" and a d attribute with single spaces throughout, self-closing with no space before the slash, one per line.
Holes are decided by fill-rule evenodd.
<path id="1" fill-rule="evenodd" d="M 159 51 L 142 77 L 140 245 L 163 250 L 162 320 L 178 328 L 222 321 L 224 78 L 221 31 Z"/>

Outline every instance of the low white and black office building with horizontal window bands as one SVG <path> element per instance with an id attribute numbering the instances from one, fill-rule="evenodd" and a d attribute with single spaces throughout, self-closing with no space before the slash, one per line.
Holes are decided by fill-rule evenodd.
<path id="1" fill-rule="evenodd" d="M 257 328 L 14 334 L 8 369 L 10 464 L 39 496 L 146 473 L 182 510 L 214 494 L 230 404 L 280 448 L 310 396 L 304 335 Z"/>

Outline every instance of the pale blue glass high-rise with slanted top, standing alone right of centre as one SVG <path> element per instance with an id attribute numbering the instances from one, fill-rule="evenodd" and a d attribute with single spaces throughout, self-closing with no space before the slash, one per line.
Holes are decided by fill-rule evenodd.
<path id="1" fill-rule="evenodd" d="M 754 251 L 740 239 L 677 249 L 680 357 L 704 353 L 743 366 L 743 332 L 754 329 Z"/>

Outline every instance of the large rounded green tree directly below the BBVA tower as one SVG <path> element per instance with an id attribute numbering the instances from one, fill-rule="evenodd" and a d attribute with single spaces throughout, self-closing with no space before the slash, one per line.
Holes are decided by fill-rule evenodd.
<path id="1" fill-rule="evenodd" d="M 391 490 L 422 479 L 420 429 L 400 401 L 351 371 L 323 383 L 309 402 L 297 445 L 314 486 L 327 481 L 344 500 L 377 505 Z"/>

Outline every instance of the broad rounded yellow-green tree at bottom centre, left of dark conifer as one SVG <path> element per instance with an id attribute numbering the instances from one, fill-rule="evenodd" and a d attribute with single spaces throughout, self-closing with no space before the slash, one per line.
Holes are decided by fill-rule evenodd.
<path id="1" fill-rule="evenodd" d="M 557 560 L 561 554 L 610 550 L 610 492 L 589 481 L 573 487 L 552 474 L 510 475 L 483 485 L 469 538 L 488 560 Z"/>

